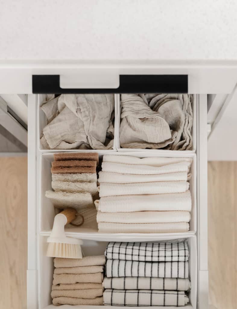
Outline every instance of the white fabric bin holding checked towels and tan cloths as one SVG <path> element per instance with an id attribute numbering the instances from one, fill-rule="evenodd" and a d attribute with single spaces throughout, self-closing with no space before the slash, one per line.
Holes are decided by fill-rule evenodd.
<path id="1" fill-rule="evenodd" d="M 146 237 L 141 237 L 139 241 L 143 241 L 143 239 L 146 239 L 144 241 L 177 241 L 176 239 L 179 239 L 178 241 L 183 241 L 184 239 L 180 239 L 178 237 L 150 237 L 149 235 Z M 52 288 L 52 280 L 53 280 L 53 258 L 49 258 L 45 256 L 47 251 L 47 237 L 40 236 L 39 239 L 39 308 L 41 309 L 55 309 L 55 308 L 63 308 L 63 309 L 78 309 L 78 308 L 91 308 L 91 309 L 102 309 L 102 308 L 115 308 L 116 306 L 70 306 L 70 305 L 64 305 L 64 306 L 54 306 L 52 305 L 52 299 L 51 299 L 51 288 Z M 114 240 L 114 239 L 113 239 Z M 188 242 L 189 247 L 189 279 L 191 281 L 191 290 L 188 293 L 189 296 L 189 303 L 185 306 L 181 306 L 179 308 L 181 309 L 194 309 L 197 306 L 197 240 L 195 235 L 189 235 L 185 236 L 185 240 Z M 107 243 L 110 241 L 110 237 L 108 236 L 101 236 L 100 239 L 97 241 L 94 240 L 87 240 L 84 242 L 84 245 L 82 246 L 82 250 L 85 253 L 85 255 L 100 255 L 104 254 L 105 248 L 107 246 Z M 126 241 L 137 241 L 137 238 L 134 236 L 130 236 L 126 239 Z M 139 307 L 143 308 L 143 307 Z M 146 307 L 149 308 L 149 307 Z M 159 306 L 159 308 L 177 308 L 173 306 L 169 307 L 163 307 Z"/>

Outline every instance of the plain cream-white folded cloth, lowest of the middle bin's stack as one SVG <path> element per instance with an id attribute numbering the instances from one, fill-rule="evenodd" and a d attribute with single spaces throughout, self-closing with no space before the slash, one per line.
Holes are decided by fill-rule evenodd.
<path id="1" fill-rule="evenodd" d="M 178 233 L 189 231 L 189 223 L 108 223 L 98 222 L 100 233 Z"/>

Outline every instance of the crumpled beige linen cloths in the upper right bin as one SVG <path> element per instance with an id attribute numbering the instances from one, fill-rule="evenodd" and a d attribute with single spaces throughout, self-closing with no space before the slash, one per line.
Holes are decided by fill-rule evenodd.
<path id="1" fill-rule="evenodd" d="M 123 148 L 192 149 L 192 95 L 122 94 Z"/>

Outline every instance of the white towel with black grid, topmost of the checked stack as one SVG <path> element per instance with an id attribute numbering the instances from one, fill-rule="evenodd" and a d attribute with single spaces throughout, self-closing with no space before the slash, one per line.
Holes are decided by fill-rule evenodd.
<path id="1" fill-rule="evenodd" d="M 111 260 L 127 261 L 187 261 L 189 259 L 188 243 L 119 243 L 110 242 L 105 256 Z"/>

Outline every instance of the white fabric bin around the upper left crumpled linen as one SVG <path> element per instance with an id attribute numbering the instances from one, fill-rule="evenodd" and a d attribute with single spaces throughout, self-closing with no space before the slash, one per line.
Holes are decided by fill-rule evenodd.
<path id="1" fill-rule="evenodd" d="M 70 151 L 75 151 L 77 150 L 78 152 L 86 152 L 86 151 L 92 151 L 92 152 L 97 152 L 96 149 L 44 149 L 44 147 L 41 145 L 41 142 L 40 142 L 40 134 L 41 132 L 43 131 L 44 127 L 47 125 L 47 119 L 46 119 L 46 116 L 44 114 L 44 112 L 40 109 L 41 105 L 43 102 L 45 102 L 46 100 L 46 95 L 43 95 L 43 94 L 40 94 L 37 96 L 37 128 L 38 128 L 38 138 L 37 138 L 37 144 L 38 144 L 38 149 L 40 151 L 58 151 L 58 152 L 70 152 Z M 115 140 L 117 139 L 115 136 L 118 135 L 118 132 L 117 132 L 117 128 L 118 128 L 118 125 L 115 126 L 115 123 L 118 122 L 117 120 L 117 104 L 118 104 L 118 101 L 117 101 L 117 95 L 114 95 L 114 142 L 113 142 L 113 149 L 105 149 L 103 151 L 106 151 L 106 152 L 111 152 L 111 151 L 114 151 L 116 149 L 116 146 L 115 146 Z M 116 129 L 115 129 L 116 128 Z"/>

